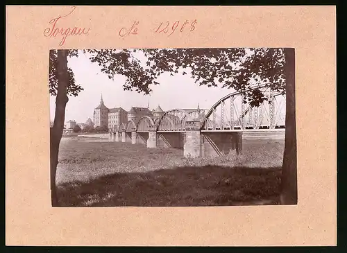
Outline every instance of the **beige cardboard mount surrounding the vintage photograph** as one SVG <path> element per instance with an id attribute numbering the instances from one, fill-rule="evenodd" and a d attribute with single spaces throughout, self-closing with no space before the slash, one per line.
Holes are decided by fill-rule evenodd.
<path id="1" fill-rule="evenodd" d="M 69 49 L 294 47 L 298 205 L 50 207 L 49 20 L 69 6 L 6 8 L 7 245 L 336 245 L 335 6 L 78 6 L 59 26 L 90 28 Z M 170 37 L 160 22 L 197 19 Z M 119 29 L 139 21 L 137 35 Z"/>

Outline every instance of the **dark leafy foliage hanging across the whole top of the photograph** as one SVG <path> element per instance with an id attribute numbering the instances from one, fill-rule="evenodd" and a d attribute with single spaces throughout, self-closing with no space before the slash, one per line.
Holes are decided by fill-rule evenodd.
<path id="1" fill-rule="evenodd" d="M 260 89 L 246 91 L 252 85 L 267 83 L 273 91 L 285 94 L 285 55 L 283 49 L 101 49 L 69 50 L 69 58 L 88 55 L 91 62 L 101 67 L 101 72 L 114 80 L 126 77 L 125 90 L 150 94 L 151 86 L 158 85 L 162 73 L 190 74 L 198 85 L 227 87 L 245 92 L 245 103 L 257 106 L 266 100 Z M 140 60 L 142 59 L 142 60 Z M 49 91 L 57 92 L 57 51 L 49 53 Z M 67 94 L 77 96 L 83 91 L 76 84 L 69 68 Z"/>

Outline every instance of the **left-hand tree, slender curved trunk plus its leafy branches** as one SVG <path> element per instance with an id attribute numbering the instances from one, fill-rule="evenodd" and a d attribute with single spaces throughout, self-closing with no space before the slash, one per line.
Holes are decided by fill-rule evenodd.
<path id="1" fill-rule="evenodd" d="M 110 64 L 105 62 L 109 69 L 101 69 L 103 73 L 110 73 L 110 69 L 115 73 L 126 76 L 126 85 L 124 88 L 137 87 L 138 92 L 149 94 L 149 85 L 153 83 L 153 78 L 149 76 L 139 64 L 139 61 L 129 60 L 130 51 L 128 50 L 84 50 L 83 53 L 91 53 L 94 55 L 90 58 L 92 62 L 101 59 L 108 59 Z M 96 55 L 95 55 L 96 54 Z M 74 73 L 67 67 L 67 58 L 78 56 L 77 50 L 60 49 L 58 51 L 51 50 L 49 52 L 49 93 L 56 96 L 56 112 L 54 116 L 53 126 L 50 134 L 51 146 L 51 204 L 53 207 L 59 205 L 56 193 L 56 169 L 58 166 L 58 154 L 60 140 L 65 121 L 65 107 L 69 101 L 68 96 L 77 96 L 83 91 L 81 85 L 76 84 Z M 131 85 L 130 85 L 131 84 Z"/>

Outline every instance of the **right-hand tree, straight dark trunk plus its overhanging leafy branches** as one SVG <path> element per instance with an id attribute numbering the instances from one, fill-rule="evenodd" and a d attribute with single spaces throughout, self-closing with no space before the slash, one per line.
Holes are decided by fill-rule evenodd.
<path id="1" fill-rule="evenodd" d="M 199 85 L 228 87 L 246 95 L 244 103 L 259 106 L 267 98 L 260 89 L 245 91 L 256 83 L 267 83 L 286 94 L 285 151 L 280 189 L 281 204 L 297 204 L 295 51 L 294 49 L 149 49 L 144 51 L 153 75 L 186 74 Z M 234 64 L 230 64 L 234 62 Z"/>

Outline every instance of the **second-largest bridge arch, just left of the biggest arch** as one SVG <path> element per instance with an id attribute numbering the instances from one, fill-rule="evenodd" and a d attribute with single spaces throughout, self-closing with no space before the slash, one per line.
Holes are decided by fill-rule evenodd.
<path id="1" fill-rule="evenodd" d="M 169 110 L 157 119 L 157 131 L 184 131 L 187 120 L 192 120 L 192 116 L 185 110 Z"/>

